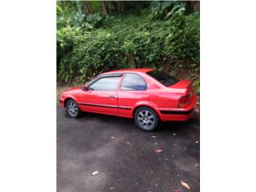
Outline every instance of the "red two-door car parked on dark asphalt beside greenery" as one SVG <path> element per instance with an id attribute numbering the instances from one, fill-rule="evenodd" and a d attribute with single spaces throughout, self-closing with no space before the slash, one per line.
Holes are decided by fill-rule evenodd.
<path id="1" fill-rule="evenodd" d="M 186 121 L 197 96 L 192 81 L 178 80 L 153 69 L 114 70 L 86 86 L 62 92 L 59 102 L 72 118 L 80 111 L 134 118 L 142 130 L 154 130 L 159 120 Z"/>

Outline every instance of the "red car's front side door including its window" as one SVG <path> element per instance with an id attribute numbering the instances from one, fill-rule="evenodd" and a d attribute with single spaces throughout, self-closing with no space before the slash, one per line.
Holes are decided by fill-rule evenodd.
<path id="1" fill-rule="evenodd" d="M 89 83 L 82 92 L 79 106 L 84 111 L 101 114 L 118 114 L 118 85 L 122 74 L 107 75 Z"/>

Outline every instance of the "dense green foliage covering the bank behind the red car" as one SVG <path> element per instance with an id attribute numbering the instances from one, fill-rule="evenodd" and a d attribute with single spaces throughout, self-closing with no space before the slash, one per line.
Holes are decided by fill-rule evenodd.
<path id="1" fill-rule="evenodd" d="M 134 5 L 138 13 L 126 8 L 106 15 L 86 14 L 79 2 L 58 2 L 58 82 L 84 82 L 121 68 L 198 67 L 197 12 L 186 14 L 180 2 L 151 2 L 143 9 Z"/>

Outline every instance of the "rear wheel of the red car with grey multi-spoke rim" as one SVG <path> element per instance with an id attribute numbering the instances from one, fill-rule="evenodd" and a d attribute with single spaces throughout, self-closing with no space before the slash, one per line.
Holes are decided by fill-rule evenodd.
<path id="1" fill-rule="evenodd" d="M 146 131 L 155 130 L 159 122 L 158 114 L 146 106 L 136 110 L 134 114 L 134 121 L 139 128 Z"/>

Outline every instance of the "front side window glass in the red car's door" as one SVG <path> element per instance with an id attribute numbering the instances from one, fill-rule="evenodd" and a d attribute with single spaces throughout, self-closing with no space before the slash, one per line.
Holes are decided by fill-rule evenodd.
<path id="1" fill-rule="evenodd" d="M 89 90 L 118 90 L 121 77 L 100 78 L 89 86 Z"/>

